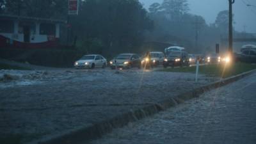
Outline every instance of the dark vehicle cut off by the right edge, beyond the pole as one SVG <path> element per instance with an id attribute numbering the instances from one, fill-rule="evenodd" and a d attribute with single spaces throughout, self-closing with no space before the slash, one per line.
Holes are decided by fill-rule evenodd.
<path id="1" fill-rule="evenodd" d="M 245 63 L 256 63 L 256 45 L 244 45 L 239 60 Z"/>

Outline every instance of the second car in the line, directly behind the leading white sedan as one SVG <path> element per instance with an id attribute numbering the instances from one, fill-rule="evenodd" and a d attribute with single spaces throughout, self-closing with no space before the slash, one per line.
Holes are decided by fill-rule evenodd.
<path id="1" fill-rule="evenodd" d="M 119 54 L 109 62 L 111 69 L 117 68 L 141 68 L 141 59 L 138 54 Z"/>

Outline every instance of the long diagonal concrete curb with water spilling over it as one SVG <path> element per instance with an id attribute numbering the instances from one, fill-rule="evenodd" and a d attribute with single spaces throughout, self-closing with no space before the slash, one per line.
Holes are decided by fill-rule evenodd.
<path id="1" fill-rule="evenodd" d="M 150 106 L 145 106 L 144 108 L 137 109 L 134 111 L 130 111 L 129 113 L 124 113 L 123 115 L 118 115 L 115 118 L 111 118 L 110 120 L 105 120 L 100 122 L 99 124 L 92 125 L 90 127 L 82 127 L 81 129 L 76 129 L 74 131 L 70 131 L 65 134 L 60 134 L 59 136 L 53 136 L 51 138 L 47 138 L 45 140 L 41 140 L 40 144 L 75 144 L 75 143 L 86 143 L 91 140 L 95 140 L 100 138 L 104 134 L 111 132 L 113 129 L 118 127 L 123 127 L 131 122 L 135 122 L 147 116 L 154 115 L 159 113 L 159 111 L 163 111 L 168 108 L 172 108 L 177 104 L 185 102 L 186 100 L 193 99 L 195 97 L 199 97 L 202 93 L 207 92 L 209 90 L 220 88 L 221 86 L 225 86 L 234 81 L 237 81 L 243 77 L 250 76 L 256 70 L 251 70 L 249 72 L 244 72 L 243 74 L 239 74 L 237 76 L 232 76 L 227 79 L 223 79 L 221 81 L 217 81 L 211 84 L 207 84 L 206 86 L 202 86 L 200 88 L 196 88 L 195 90 L 191 90 L 186 93 L 182 93 L 177 95 L 172 99 L 167 99 L 159 102 L 158 104 L 152 104 Z"/>

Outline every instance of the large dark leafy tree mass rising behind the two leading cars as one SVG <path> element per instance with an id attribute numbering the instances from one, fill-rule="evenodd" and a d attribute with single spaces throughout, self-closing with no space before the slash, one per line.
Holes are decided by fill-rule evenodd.
<path id="1" fill-rule="evenodd" d="M 138 51 L 134 47 L 143 42 L 144 31 L 152 29 L 152 20 L 138 0 L 83 1 L 80 15 L 70 20 L 79 41 L 92 44 L 97 39 L 105 54 Z"/>

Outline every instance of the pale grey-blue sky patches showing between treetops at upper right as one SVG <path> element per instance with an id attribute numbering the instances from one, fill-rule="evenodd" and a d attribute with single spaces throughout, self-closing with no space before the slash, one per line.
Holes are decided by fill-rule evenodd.
<path id="1" fill-rule="evenodd" d="M 162 3 L 163 0 L 140 0 L 145 8 L 152 3 Z M 222 10 L 228 10 L 228 0 L 188 0 L 190 12 L 201 15 L 207 24 L 214 23 L 218 13 Z M 253 6 L 246 6 L 251 4 Z M 256 33 L 256 0 L 236 0 L 234 9 L 234 25 L 237 31 L 246 31 L 247 33 Z"/>

